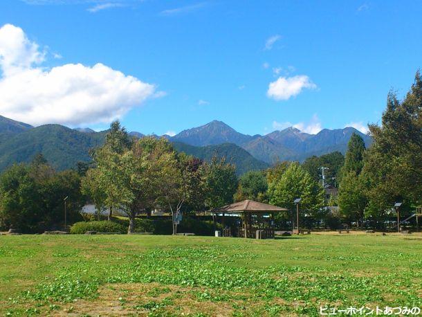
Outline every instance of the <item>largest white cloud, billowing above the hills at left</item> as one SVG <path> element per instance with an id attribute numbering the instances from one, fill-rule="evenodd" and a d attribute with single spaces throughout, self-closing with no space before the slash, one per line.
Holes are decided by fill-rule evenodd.
<path id="1" fill-rule="evenodd" d="M 154 85 L 104 64 L 46 69 L 44 58 L 21 28 L 0 28 L 1 115 L 32 125 L 109 123 L 154 97 Z"/>

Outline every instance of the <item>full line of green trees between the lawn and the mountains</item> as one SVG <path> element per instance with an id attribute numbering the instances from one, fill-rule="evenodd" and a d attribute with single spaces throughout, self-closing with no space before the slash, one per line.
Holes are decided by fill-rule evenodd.
<path id="1" fill-rule="evenodd" d="M 224 159 L 201 161 L 176 152 L 165 138 L 133 138 L 118 121 L 111 123 L 104 144 L 91 151 L 91 163 L 75 170 L 56 172 L 42 155 L 32 163 L 16 164 L 0 175 L 0 226 L 24 232 L 49 228 L 63 219 L 68 197 L 69 219 L 79 217 L 86 201 L 99 212 L 123 212 L 134 232 L 139 212 L 155 208 L 177 217 L 219 208 L 233 201 L 252 199 L 276 206 L 300 208 L 306 216 L 356 222 L 385 220 L 395 202 L 403 210 L 421 205 L 422 176 L 422 80 L 419 71 L 403 100 L 387 96 L 382 125 L 369 125 L 373 143 L 365 148 L 353 134 L 343 156 L 333 152 L 312 156 L 302 164 L 278 162 L 264 171 L 250 171 L 239 179 L 235 166 Z M 337 197 L 327 196 L 320 181 L 321 166 L 326 183 L 339 188 Z M 338 206 L 332 215 L 327 206 Z M 288 220 L 290 215 L 281 215 Z M 176 226 L 176 225 L 175 225 Z M 176 227 L 174 227 L 174 232 Z"/>

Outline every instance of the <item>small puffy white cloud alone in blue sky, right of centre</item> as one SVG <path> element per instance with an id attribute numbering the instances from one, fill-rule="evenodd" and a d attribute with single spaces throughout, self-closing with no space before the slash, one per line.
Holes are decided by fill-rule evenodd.
<path id="1" fill-rule="evenodd" d="M 274 100 L 288 100 L 297 96 L 303 89 L 316 89 L 317 86 L 306 75 L 293 77 L 279 77 L 275 82 L 270 82 L 267 96 Z"/>

